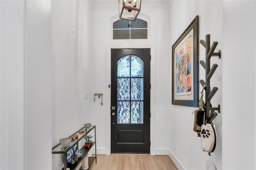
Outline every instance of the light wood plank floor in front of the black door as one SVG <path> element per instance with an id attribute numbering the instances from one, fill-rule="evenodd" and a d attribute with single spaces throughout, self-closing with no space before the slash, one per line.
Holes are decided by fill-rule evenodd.
<path id="1" fill-rule="evenodd" d="M 178 170 L 169 156 L 150 154 L 97 154 L 90 170 Z"/>

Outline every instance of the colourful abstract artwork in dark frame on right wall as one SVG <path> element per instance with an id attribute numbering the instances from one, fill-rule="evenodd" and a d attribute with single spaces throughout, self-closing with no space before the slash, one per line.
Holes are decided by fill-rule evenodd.
<path id="1" fill-rule="evenodd" d="M 172 45 L 172 104 L 198 107 L 198 16 Z"/>

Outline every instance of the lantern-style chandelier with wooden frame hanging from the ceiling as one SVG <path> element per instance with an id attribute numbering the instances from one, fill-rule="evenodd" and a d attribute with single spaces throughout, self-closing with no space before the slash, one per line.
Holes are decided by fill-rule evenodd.
<path id="1" fill-rule="evenodd" d="M 118 0 L 119 18 L 135 21 L 139 12 L 141 0 Z"/>

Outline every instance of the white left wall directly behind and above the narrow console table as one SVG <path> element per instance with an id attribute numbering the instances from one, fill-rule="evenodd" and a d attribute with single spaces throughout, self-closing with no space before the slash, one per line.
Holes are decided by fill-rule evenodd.
<path id="1" fill-rule="evenodd" d="M 92 24 L 88 1 L 52 1 L 51 10 L 54 147 L 60 139 L 82 128 L 84 123 L 91 123 L 93 94 L 90 73 L 93 68 L 90 66 Z M 64 166 L 63 155 L 52 154 L 52 162 L 52 169 L 61 169 Z"/>

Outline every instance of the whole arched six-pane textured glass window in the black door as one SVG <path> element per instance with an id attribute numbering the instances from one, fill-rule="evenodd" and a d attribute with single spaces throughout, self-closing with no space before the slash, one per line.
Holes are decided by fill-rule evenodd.
<path id="1" fill-rule="evenodd" d="M 118 60 L 117 119 L 119 124 L 143 124 L 144 65 L 135 55 Z"/>

